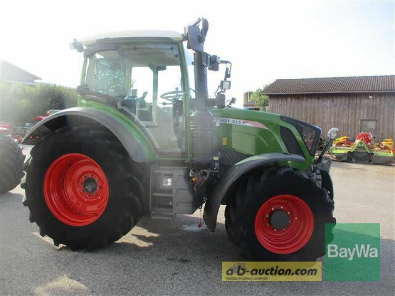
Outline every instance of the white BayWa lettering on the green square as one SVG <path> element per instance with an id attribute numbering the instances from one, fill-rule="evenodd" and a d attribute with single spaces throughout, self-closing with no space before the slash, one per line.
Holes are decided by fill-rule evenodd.
<path id="1" fill-rule="evenodd" d="M 345 258 L 349 261 L 356 258 L 378 258 L 379 250 L 373 248 L 370 244 L 367 245 L 355 245 L 354 248 L 339 248 L 338 245 L 328 244 L 328 258 Z"/>

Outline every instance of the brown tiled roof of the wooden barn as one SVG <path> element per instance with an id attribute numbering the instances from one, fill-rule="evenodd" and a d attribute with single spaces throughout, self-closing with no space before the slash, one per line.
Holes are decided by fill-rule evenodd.
<path id="1" fill-rule="evenodd" d="M 395 92 L 395 75 L 277 79 L 265 95 Z"/>

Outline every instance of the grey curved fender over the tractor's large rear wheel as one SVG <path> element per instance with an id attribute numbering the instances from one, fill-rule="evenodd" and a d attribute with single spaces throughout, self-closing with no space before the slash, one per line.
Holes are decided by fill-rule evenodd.
<path id="1" fill-rule="evenodd" d="M 48 116 L 26 134 L 22 144 L 36 145 L 45 134 L 59 128 L 94 125 L 92 123 L 103 125 L 112 132 L 134 161 L 146 162 L 155 158 L 149 140 L 137 130 L 137 125 L 132 126 L 109 112 L 89 107 L 74 107 Z"/>

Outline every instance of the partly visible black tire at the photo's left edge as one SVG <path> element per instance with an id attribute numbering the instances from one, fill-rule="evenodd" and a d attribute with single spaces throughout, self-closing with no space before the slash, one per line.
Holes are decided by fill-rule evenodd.
<path id="1" fill-rule="evenodd" d="M 11 138 L 0 135 L 0 193 L 10 191 L 21 183 L 24 160 L 22 148 Z"/>

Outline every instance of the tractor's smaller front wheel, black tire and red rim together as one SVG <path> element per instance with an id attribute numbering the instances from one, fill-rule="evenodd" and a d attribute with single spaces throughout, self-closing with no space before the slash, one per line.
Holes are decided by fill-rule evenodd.
<path id="1" fill-rule="evenodd" d="M 324 255 L 325 223 L 334 223 L 327 191 L 292 168 L 253 172 L 237 184 L 225 226 L 237 252 L 253 260 L 315 260 Z"/>

